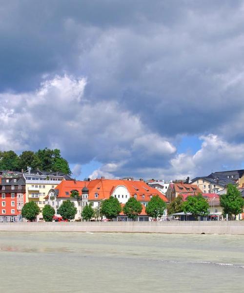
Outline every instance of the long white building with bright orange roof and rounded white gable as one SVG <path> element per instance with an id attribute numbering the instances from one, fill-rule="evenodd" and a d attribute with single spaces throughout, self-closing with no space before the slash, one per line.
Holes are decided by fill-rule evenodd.
<path id="1" fill-rule="evenodd" d="M 72 190 L 79 192 L 79 200 L 70 198 Z M 149 187 L 143 180 L 113 180 L 102 177 L 101 179 L 90 181 L 62 181 L 56 188 L 50 189 L 45 201 L 46 204 L 55 209 L 57 214 L 57 209 L 63 200 L 70 199 L 75 203 L 78 210 L 75 219 L 80 219 L 82 208 L 88 203 L 91 203 L 93 208 L 98 208 L 102 200 L 114 196 L 118 198 L 121 204 L 125 204 L 133 196 L 146 207 L 154 195 L 159 195 L 167 202 L 167 199 L 159 190 Z M 166 217 L 166 211 L 164 216 Z"/>

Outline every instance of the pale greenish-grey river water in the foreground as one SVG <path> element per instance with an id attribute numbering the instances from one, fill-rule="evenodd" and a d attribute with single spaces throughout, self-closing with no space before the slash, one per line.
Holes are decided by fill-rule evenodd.
<path id="1" fill-rule="evenodd" d="M 244 236 L 0 232 L 0 293 L 244 292 Z"/>

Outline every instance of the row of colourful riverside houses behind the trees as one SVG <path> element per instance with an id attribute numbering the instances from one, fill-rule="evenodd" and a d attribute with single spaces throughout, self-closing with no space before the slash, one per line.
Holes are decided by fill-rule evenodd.
<path id="1" fill-rule="evenodd" d="M 220 195 L 226 192 L 227 185 L 235 184 L 244 196 L 244 170 L 211 173 L 208 176 L 196 177 L 186 181 L 171 180 L 159 181 L 123 178 L 120 180 L 100 179 L 77 181 L 61 172 L 43 172 L 39 169 L 26 172 L 0 171 L 0 221 L 20 221 L 21 209 L 29 201 L 35 201 L 40 208 L 38 221 L 42 220 L 42 209 L 49 204 L 57 210 L 64 200 L 74 202 L 78 212 L 75 219 L 81 218 L 82 208 L 89 203 L 93 208 L 98 208 L 104 199 L 114 196 L 124 205 L 130 197 L 136 198 L 142 204 L 139 221 L 148 221 L 145 207 L 154 195 L 159 195 L 166 203 L 172 202 L 182 195 L 186 200 L 189 195 L 202 193 L 208 200 L 210 216 L 222 217 Z M 78 191 L 79 200 L 70 198 L 71 192 Z M 166 210 L 163 218 L 166 218 Z M 241 215 L 240 215 L 241 217 Z M 239 218 L 240 218 L 239 217 Z M 120 220 L 127 220 L 121 213 Z"/>

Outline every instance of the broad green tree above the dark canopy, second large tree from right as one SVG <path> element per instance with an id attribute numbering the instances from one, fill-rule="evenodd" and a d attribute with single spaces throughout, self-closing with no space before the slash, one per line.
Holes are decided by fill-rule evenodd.
<path id="1" fill-rule="evenodd" d="M 204 217 L 209 214 L 208 202 L 201 193 L 197 196 L 188 196 L 182 207 L 185 213 L 191 213 L 196 220 L 198 220 L 198 216 Z"/>

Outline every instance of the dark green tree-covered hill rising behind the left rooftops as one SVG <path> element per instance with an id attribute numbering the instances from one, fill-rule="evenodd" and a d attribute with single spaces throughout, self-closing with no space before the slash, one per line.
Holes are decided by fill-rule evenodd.
<path id="1" fill-rule="evenodd" d="M 0 170 L 24 171 L 27 167 L 41 171 L 59 171 L 71 174 L 68 162 L 61 157 L 60 149 L 39 149 L 37 152 L 25 150 L 17 155 L 13 150 L 0 151 Z"/>

